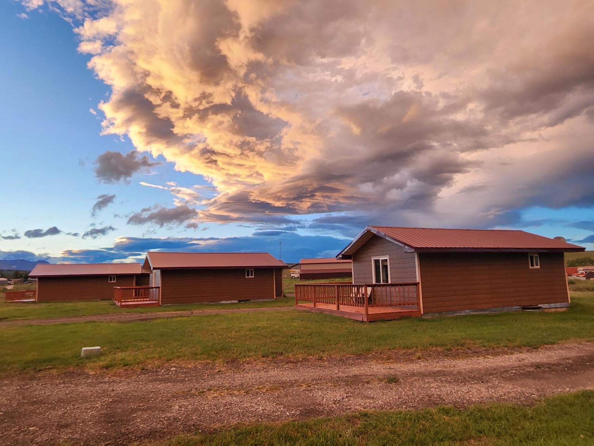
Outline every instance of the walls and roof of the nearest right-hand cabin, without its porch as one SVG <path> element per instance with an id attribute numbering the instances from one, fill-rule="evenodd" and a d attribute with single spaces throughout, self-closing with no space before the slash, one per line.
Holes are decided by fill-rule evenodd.
<path id="1" fill-rule="evenodd" d="M 353 284 L 418 283 L 422 315 L 564 309 L 570 304 L 564 252 L 584 247 L 519 230 L 368 226 L 338 259 Z"/>

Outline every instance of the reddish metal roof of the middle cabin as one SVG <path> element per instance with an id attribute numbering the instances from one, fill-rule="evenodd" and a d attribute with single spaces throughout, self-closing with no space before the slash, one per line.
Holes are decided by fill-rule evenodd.
<path id="1" fill-rule="evenodd" d="M 147 252 L 153 269 L 284 268 L 267 252 Z"/>

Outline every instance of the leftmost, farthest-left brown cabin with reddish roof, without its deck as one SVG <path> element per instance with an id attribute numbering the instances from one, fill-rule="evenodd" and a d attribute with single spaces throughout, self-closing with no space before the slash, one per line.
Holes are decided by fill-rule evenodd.
<path id="1" fill-rule="evenodd" d="M 29 273 L 37 278 L 38 302 L 113 299 L 115 287 L 149 284 L 141 263 L 40 263 Z"/>

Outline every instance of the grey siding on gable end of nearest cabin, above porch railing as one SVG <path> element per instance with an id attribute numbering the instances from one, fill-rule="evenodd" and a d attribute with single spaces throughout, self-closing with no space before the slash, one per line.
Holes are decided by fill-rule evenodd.
<path id="1" fill-rule="evenodd" d="M 373 283 L 371 257 L 390 257 L 390 282 L 416 282 L 415 253 L 374 235 L 353 254 L 353 284 Z"/>

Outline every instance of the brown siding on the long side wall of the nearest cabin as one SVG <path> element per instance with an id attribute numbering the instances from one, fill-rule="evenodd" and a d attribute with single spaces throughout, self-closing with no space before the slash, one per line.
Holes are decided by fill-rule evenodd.
<path id="1" fill-rule="evenodd" d="M 567 303 L 563 253 L 419 253 L 424 313 Z"/>

